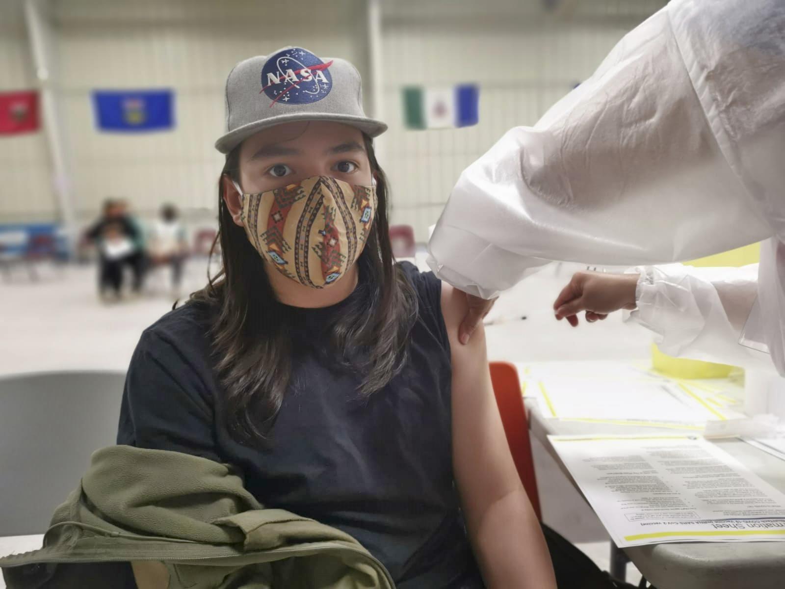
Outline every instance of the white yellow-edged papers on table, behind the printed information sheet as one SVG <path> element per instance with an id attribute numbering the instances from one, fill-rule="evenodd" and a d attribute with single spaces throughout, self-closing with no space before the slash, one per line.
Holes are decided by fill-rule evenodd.
<path id="1" fill-rule="evenodd" d="M 707 394 L 670 381 L 591 381 L 550 377 L 532 386 L 542 415 L 557 419 L 598 419 L 703 426 L 709 419 L 737 416 Z M 529 390 L 529 388 L 528 388 Z"/>

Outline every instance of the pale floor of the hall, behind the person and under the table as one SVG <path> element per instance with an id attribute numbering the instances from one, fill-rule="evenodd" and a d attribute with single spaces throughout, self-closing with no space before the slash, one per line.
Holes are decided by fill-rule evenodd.
<path id="1" fill-rule="evenodd" d="M 418 265 L 424 255 L 418 254 Z M 573 329 L 553 319 L 551 304 L 577 265 L 551 265 L 502 295 L 488 319 L 491 360 L 641 360 L 651 338 L 621 316 Z M 206 262 L 188 263 L 182 292 L 203 286 Z M 0 276 L 0 375 L 26 371 L 125 370 L 144 327 L 171 309 L 168 276 L 158 273 L 141 298 L 98 301 L 92 266 L 42 267 L 39 280 L 24 269 Z M 525 317 L 525 319 L 524 319 Z M 543 519 L 608 568 L 608 536 L 593 511 L 533 441 Z M 630 581 L 640 578 L 630 565 Z M 2 587 L 2 582 L 0 582 Z"/>

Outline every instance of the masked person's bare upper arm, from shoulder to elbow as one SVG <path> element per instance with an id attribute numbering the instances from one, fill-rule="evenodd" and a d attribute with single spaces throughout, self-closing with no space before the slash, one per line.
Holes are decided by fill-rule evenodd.
<path id="1" fill-rule="evenodd" d="M 491 386 L 484 327 L 466 345 L 458 327 L 466 315 L 466 295 L 442 283 L 444 323 L 452 360 L 453 468 L 469 529 L 496 500 L 521 488 Z"/>

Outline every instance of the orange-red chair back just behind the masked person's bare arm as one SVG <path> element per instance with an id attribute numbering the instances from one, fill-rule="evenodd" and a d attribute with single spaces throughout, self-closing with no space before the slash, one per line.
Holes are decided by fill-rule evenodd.
<path id="1" fill-rule="evenodd" d="M 513 455 L 513 462 L 518 470 L 520 482 L 524 484 L 526 494 L 529 496 L 531 507 L 534 507 L 537 518 L 542 519 L 539 493 L 537 492 L 537 477 L 535 477 L 535 463 L 531 455 L 529 426 L 524 408 L 523 391 L 520 389 L 520 381 L 518 380 L 518 371 L 509 362 L 491 362 L 490 367 L 493 392 L 496 396 L 498 411 L 502 415 L 509 452 Z"/>

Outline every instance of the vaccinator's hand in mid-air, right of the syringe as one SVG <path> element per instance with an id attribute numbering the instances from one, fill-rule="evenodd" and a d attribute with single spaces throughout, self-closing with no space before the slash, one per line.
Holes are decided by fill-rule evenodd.
<path id="1" fill-rule="evenodd" d="M 604 274 L 577 272 L 562 289 L 553 309 L 557 320 L 566 317 L 572 327 L 578 325 L 578 313 L 586 311 L 586 321 L 603 320 L 619 309 L 635 309 L 635 291 L 639 274 Z"/>

